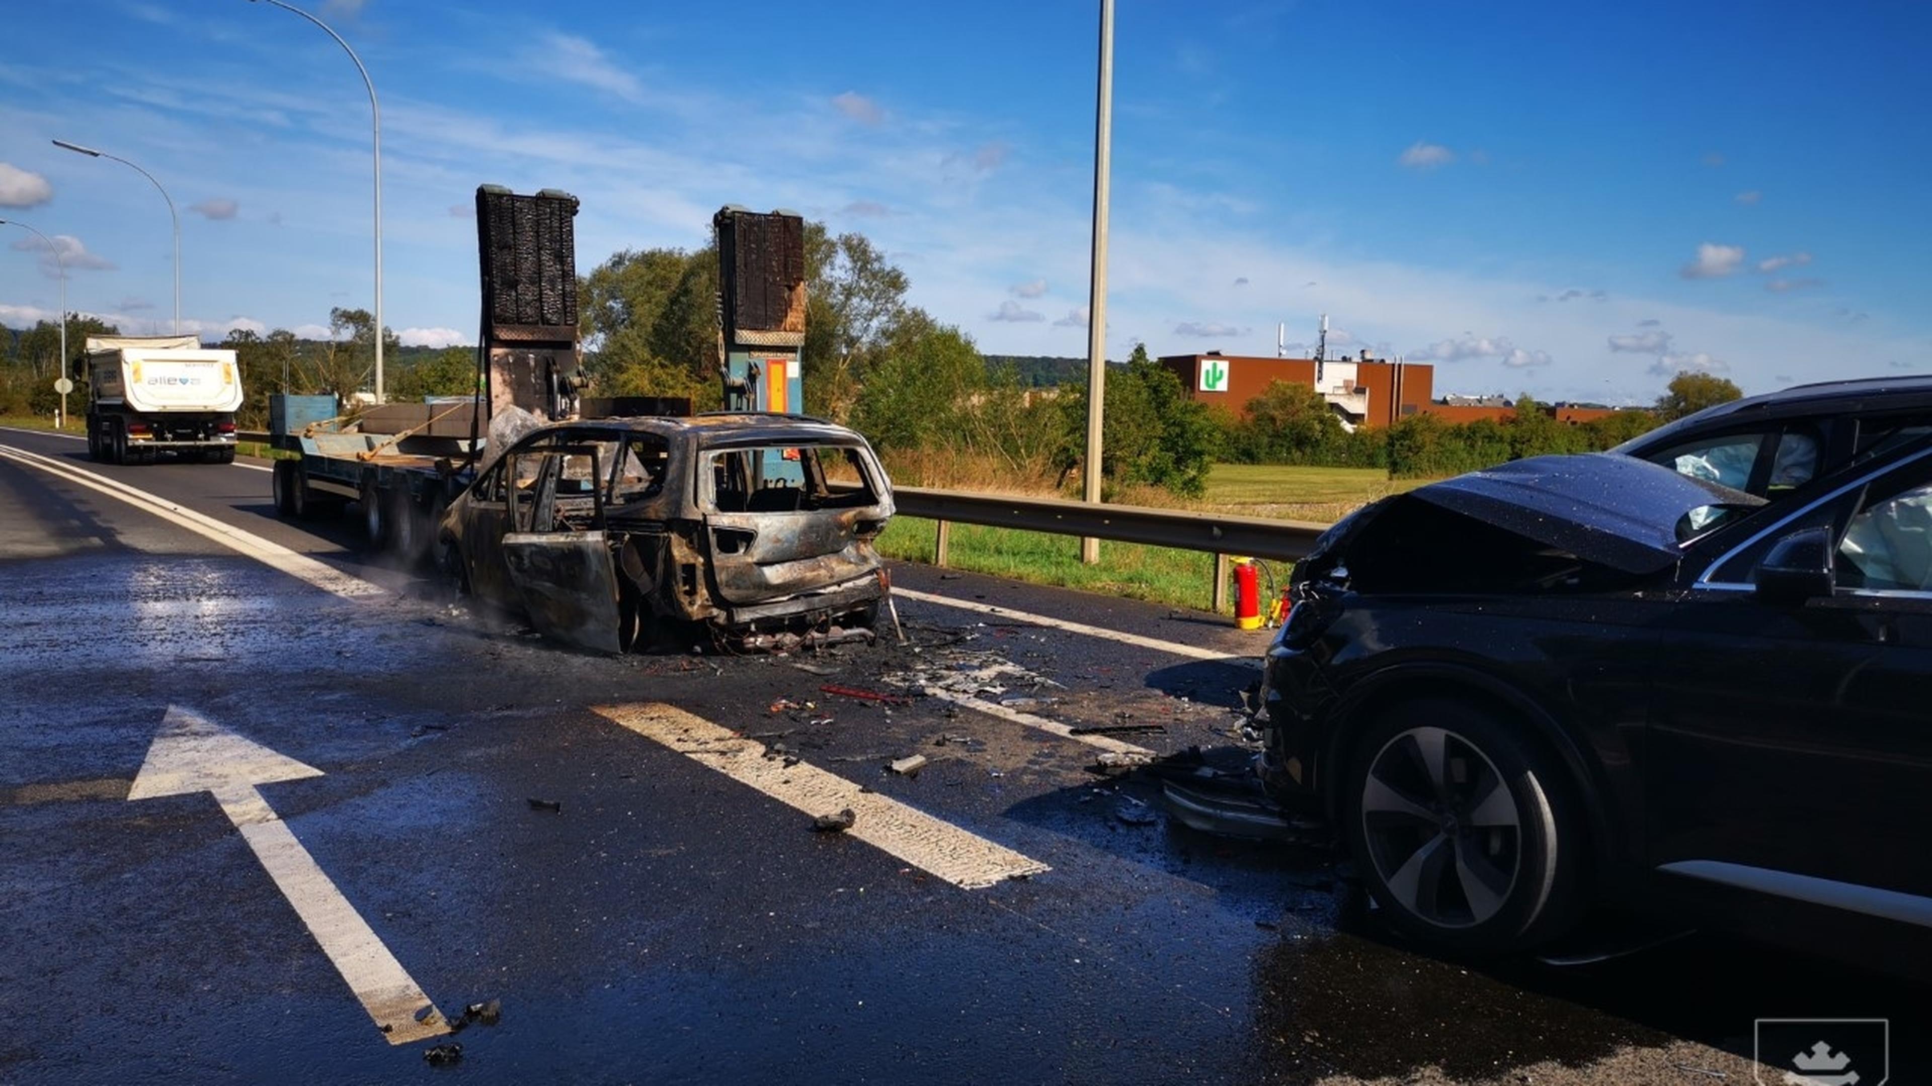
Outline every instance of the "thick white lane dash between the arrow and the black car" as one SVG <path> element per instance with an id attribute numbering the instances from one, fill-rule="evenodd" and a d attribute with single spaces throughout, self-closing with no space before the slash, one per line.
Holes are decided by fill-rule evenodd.
<path id="1" fill-rule="evenodd" d="M 856 837 L 956 887 L 981 889 L 1005 879 L 1051 872 L 1039 860 L 1022 856 L 1005 844 L 995 844 L 898 800 L 860 790 L 844 777 L 804 761 L 786 767 L 782 759 L 765 757 L 761 742 L 672 705 L 597 705 L 595 711 L 811 817 L 835 815 L 850 808 L 856 819 L 852 829 L 844 831 L 846 837 Z"/>

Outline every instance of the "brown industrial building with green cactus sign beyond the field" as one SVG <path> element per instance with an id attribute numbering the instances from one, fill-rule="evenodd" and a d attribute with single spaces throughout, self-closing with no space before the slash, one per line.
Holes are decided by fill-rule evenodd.
<path id="1" fill-rule="evenodd" d="M 1501 421 L 1517 414 L 1517 408 L 1499 396 L 1486 400 L 1451 396 L 1437 402 L 1434 398 L 1434 365 L 1368 357 L 1368 352 L 1358 357 L 1320 363 L 1312 357 L 1254 357 L 1215 352 L 1165 356 L 1159 361 L 1180 379 L 1188 396 L 1225 408 L 1236 417 L 1246 415 L 1248 402 L 1275 381 L 1316 388 L 1350 429 L 1385 427 L 1414 414 L 1437 415 L 1445 423 Z M 1615 408 L 1553 404 L 1546 406 L 1546 412 L 1559 423 L 1578 425 L 1609 415 Z"/>

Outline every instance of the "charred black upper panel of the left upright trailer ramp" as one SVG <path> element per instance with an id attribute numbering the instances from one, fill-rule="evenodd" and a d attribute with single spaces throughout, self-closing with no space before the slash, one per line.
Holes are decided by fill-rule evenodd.
<path id="1" fill-rule="evenodd" d="M 578 197 L 477 189 L 485 342 L 576 342 Z"/>

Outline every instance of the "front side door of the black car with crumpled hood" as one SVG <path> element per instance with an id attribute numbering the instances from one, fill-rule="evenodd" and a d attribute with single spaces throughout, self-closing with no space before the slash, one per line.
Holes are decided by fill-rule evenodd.
<path id="1" fill-rule="evenodd" d="M 1656 870 L 1932 926 L 1932 591 L 1779 599 L 1752 584 L 1779 541 L 1828 528 L 1835 555 L 1857 512 L 1928 481 L 1920 446 L 1714 539 L 1658 626 L 1642 757 Z"/>

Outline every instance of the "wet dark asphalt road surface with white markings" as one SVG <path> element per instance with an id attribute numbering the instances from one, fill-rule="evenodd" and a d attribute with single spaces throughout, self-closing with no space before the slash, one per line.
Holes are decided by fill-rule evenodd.
<path id="1" fill-rule="evenodd" d="M 276 520 L 267 472 L 0 446 L 66 472 L 0 456 L 0 1082 L 1708 1086 L 1752 1082 L 1758 1016 L 1874 1015 L 1891 1082 L 1932 1080 L 1920 986 L 1712 935 L 1416 955 L 1321 848 L 1173 825 L 1047 730 L 1238 759 L 1260 642 L 1211 616 L 898 566 L 1194 653 L 902 601 L 910 645 L 601 659 L 384 568 L 348 520 Z M 823 690 L 933 682 L 993 711 Z M 253 792 L 168 773 L 236 750 Z M 852 831 L 813 831 L 813 788 Z M 995 877 L 960 875 L 980 854 Z M 371 976 L 440 1018 L 383 1032 Z"/>

